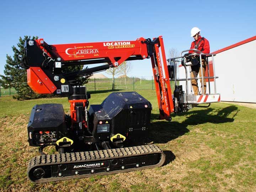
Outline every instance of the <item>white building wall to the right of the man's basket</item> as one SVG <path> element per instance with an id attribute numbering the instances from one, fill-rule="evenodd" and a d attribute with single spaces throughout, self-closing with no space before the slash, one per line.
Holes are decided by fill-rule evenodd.
<path id="1" fill-rule="evenodd" d="M 256 103 L 256 40 L 214 57 L 217 92 L 221 101 Z"/>

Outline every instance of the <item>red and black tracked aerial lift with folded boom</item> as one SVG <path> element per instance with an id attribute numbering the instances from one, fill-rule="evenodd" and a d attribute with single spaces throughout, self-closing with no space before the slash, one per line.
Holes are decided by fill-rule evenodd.
<path id="1" fill-rule="evenodd" d="M 170 80 L 176 82 L 177 79 L 175 76 L 170 79 L 169 74 L 176 74 L 176 65 L 171 65 L 176 61 L 169 59 L 170 65 L 167 65 L 162 36 L 153 40 L 141 37 L 135 41 L 57 45 L 48 45 L 43 39 L 25 42 L 22 66 L 27 69 L 28 85 L 38 94 L 68 96 L 70 103 L 69 115 L 60 104 L 32 108 L 28 142 L 30 146 L 38 146 L 41 153 L 28 164 L 27 175 L 32 182 L 162 166 L 165 154 L 158 146 L 132 144 L 138 143 L 148 132 L 152 110 L 148 100 L 137 92 L 115 92 L 100 105 L 90 105 L 88 109 L 90 95 L 85 86 L 78 86 L 79 76 L 118 67 L 124 61 L 147 58 L 151 59 L 160 119 L 171 121 L 172 112 L 189 110 L 195 98 L 178 85 L 172 95 Z M 68 66 L 99 63 L 108 64 L 62 72 Z M 59 153 L 44 154 L 43 149 L 49 145 L 54 145 Z"/>

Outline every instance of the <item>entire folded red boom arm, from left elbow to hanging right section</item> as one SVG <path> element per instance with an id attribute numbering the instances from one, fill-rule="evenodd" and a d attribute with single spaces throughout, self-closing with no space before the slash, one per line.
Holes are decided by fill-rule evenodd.
<path id="1" fill-rule="evenodd" d="M 161 54 L 160 54 L 161 50 Z M 70 81 L 74 76 L 92 74 L 109 67 L 117 67 L 125 60 L 151 58 L 160 118 L 170 120 L 174 112 L 172 92 L 162 36 L 136 41 L 75 43 L 48 45 L 43 39 L 25 43 L 28 85 L 40 94 L 73 94 Z M 108 63 L 95 70 L 62 74 L 65 66 Z M 93 68 L 91 68 L 93 69 Z"/>

